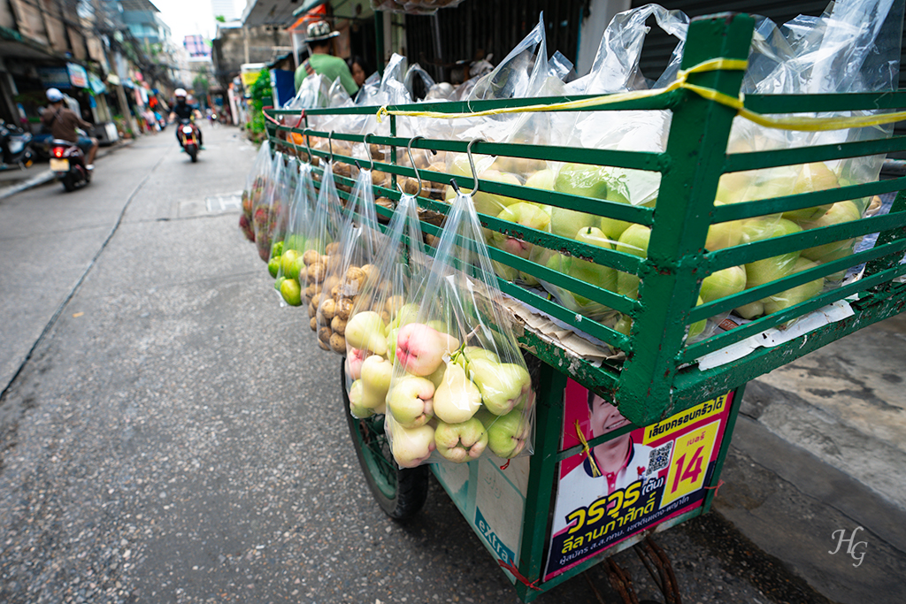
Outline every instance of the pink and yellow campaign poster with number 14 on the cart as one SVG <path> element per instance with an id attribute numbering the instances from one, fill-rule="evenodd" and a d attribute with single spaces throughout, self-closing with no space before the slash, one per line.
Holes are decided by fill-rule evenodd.
<path id="1" fill-rule="evenodd" d="M 545 580 L 637 532 L 704 503 L 732 393 L 648 427 L 591 443 L 559 467 Z M 577 428 L 578 425 L 578 428 Z M 630 426 L 572 379 L 564 391 L 563 449 Z M 578 431 L 577 431 L 578 430 Z"/>

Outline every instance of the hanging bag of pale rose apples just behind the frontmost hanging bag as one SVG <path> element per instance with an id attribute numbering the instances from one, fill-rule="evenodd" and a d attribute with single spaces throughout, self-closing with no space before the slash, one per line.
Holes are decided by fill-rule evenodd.
<path id="1" fill-rule="evenodd" d="M 346 388 L 352 417 L 385 413 L 396 335 L 400 325 L 415 321 L 419 307 L 414 288 L 423 283 L 430 257 L 419 228 L 419 205 L 400 196 L 383 236 L 383 244 L 346 322 Z"/>

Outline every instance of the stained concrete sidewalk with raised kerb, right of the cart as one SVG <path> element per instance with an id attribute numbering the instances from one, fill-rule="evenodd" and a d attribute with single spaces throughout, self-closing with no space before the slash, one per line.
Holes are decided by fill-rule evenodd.
<path id="1" fill-rule="evenodd" d="M 901 314 L 750 382 L 715 499 L 840 604 L 906 598 L 903 340 Z"/>

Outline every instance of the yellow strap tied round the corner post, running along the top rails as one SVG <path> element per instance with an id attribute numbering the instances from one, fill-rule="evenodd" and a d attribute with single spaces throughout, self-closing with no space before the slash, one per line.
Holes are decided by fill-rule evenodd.
<path id="1" fill-rule="evenodd" d="M 579 110 L 595 109 L 604 105 L 623 101 L 636 101 L 639 99 L 650 99 L 667 94 L 677 89 L 685 89 L 695 92 L 700 97 L 715 101 L 721 105 L 726 105 L 737 110 L 737 115 L 746 120 L 752 121 L 759 126 L 773 129 L 800 130 L 807 132 L 823 130 L 839 130 L 847 128 L 865 128 L 868 126 L 881 126 L 883 124 L 892 124 L 896 121 L 906 120 L 906 111 L 896 111 L 892 113 L 882 113 L 878 115 L 859 115 L 859 116 L 840 116 L 829 118 L 816 118 L 807 116 L 791 117 L 769 117 L 755 111 L 747 110 L 743 106 L 743 95 L 734 98 L 723 92 L 718 92 L 704 86 L 690 84 L 687 81 L 689 74 L 701 72 L 714 72 L 718 70 L 741 71 L 745 70 L 748 62 L 744 59 L 709 59 L 700 62 L 698 65 L 686 70 L 680 70 L 677 74 L 676 81 L 670 83 L 666 88 L 658 88 L 650 91 L 630 91 L 616 92 L 591 99 L 581 101 L 564 101 L 545 105 L 528 105 L 526 107 L 502 107 L 499 109 L 489 109 L 484 111 L 473 111 L 470 113 L 445 113 L 442 111 L 414 111 L 414 110 L 389 110 L 384 105 L 378 110 L 377 119 L 379 122 L 387 115 L 395 115 L 407 118 L 434 118 L 438 120 L 458 120 L 462 118 L 480 118 L 488 115 L 501 115 L 504 113 L 533 113 L 538 111 L 552 110 Z"/>

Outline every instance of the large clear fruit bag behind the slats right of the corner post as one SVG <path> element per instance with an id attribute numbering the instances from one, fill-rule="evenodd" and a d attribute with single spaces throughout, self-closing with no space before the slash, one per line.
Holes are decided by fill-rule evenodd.
<path id="1" fill-rule="evenodd" d="M 758 43 L 753 46 L 741 90 L 744 94 L 892 91 L 896 81 L 887 66 L 896 60 L 898 53 L 889 44 L 880 43 L 879 39 L 891 6 L 890 1 L 848 0 L 836 3 L 819 17 L 800 15 L 783 28 L 766 19 L 759 21 L 756 25 Z M 853 115 L 865 113 L 868 111 L 852 112 Z M 819 114 L 820 117 L 826 115 L 829 114 Z M 841 114 L 834 115 L 839 117 Z M 890 127 L 824 132 L 766 129 L 737 118 L 730 132 L 728 152 L 834 145 L 845 141 L 885 138 L 891 132 Z M 882 156 L 842 158 L 725 174 L 718 183 L 715 205 L 753 202 L 872 182 L 878 178 L 882 162 Z M 867 206 L 868 199 L 865 198 L 843 200 L 790 210 L 782 215 L 755 216 L 713 225 L 706 247 L 714 251 L 851 222 L 863 217 Z M 853 254 L 859 239 L 843 238 L 725 269 L 736 273 L 735 291 L 724 288 L 723 295 L 842 260 Z M 756 319 L 783 311 L 823 291 L 839 287 L 846 273 L 843 269 L 818 277 L 739 306 L 734 312 L 743 319 Z M 717 275 L 714 273 L 709 278 Z M 702 283 L 704 294 L 705 283 Z"/>

